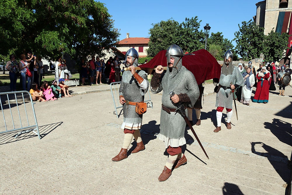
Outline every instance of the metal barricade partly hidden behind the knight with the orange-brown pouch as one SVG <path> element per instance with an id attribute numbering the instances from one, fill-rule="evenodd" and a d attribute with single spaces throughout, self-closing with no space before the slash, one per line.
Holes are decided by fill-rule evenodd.
<path id="1" fill-rule="evenodd" d="M 112 100 L 114 102 L 114 114 L 116 113 L 117 118 L 119 118 L 119 115 L 121 115 L 121 112 L 122 112 L 121 110 L 120 113 L 118 114 L 117 109 L 123 108 L 123 105 L 121 105 L 120 103 L 119 84 L 121 84 L 121 82 L 112 82 L 110 84 L 110 92 L 112 93 Z M 149 89 L 148 89 L 148 92 L 144 96 L 144 102 L 147 103 L 147 107 L 153 108 Z"/>

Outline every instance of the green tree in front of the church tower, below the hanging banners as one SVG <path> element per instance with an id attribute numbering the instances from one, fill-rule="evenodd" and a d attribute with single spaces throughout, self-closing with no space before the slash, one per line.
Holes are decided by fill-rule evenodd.
<path id="1" fill-rule="evenodd" d="M 263 54 L 265 56 L 265 61 L 279 61 L 288 49 L 289 35 L 287 33 L 280 34 L 279 32 L 274 32 L 273 30 L 265 36 L 264 40 L 264 50 Z"/>

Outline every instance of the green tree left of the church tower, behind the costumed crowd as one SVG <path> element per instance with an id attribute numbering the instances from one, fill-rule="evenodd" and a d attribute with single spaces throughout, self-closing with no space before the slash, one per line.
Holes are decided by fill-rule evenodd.
<path id="1" fill-rule="evenodd" d="M 264 50 L 264 28 L 256 25 L 255 22 L 249 20 L 243 21 L 242 25 L 238 25 L 239 31 L 235 32 L 237 53 L 243 58 L 243 60 L 251 60 L 259 58 L 260 53 Z"/>

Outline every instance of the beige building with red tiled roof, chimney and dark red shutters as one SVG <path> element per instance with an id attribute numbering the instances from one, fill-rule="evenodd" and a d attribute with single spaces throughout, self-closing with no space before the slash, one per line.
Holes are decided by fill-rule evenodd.
<path id="1" fill-rule="evenodd" d="M 147 49 L 149 43 L 149 37 L 130 37 L 129 33 L 127 33 L 126 39 L 119 41 L 117 49 L 121 51 L 123 54 L 131 49 L 135 48 L 138 51 L 139 58 L 147 56 Z"/>

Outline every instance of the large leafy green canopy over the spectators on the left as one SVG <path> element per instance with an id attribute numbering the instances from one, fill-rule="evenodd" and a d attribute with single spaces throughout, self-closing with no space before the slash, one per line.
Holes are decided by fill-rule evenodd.
<path id="1" fill-rule="evenodd" d="M 0 4 L 0 50 L 16 55 L 32 50 L 55 58 L 100 54 L 118 41 L 104 4 L 94 0 L 6 0 Z"/>

